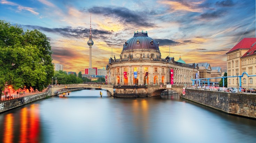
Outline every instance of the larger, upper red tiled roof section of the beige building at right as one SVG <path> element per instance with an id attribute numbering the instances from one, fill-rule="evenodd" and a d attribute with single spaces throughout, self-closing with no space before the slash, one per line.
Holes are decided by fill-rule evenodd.
<path id="1" fill-rule="evenodd" d="M 233 52 L 238 49 L 250 49 L 251 45 L 256 42 L 256 38 L 243 38 L 239 43 L 237 43 L 231 50 L 226 54 Z"/>

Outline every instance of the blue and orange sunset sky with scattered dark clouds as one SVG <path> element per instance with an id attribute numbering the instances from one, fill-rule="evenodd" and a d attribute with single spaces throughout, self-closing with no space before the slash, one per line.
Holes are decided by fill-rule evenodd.
<path id="1" fill-rule="evenodd" d="M 159 42 L 162 58 L 208 62 L 226 72 L 226 52 L 244 37 L 255 37 L 255 0 L 0 0 L 0 19 L 23 30 L 38 29 L 50 40 L 53 62 L 64 71 L 119 59 L 134 31 Z"/>

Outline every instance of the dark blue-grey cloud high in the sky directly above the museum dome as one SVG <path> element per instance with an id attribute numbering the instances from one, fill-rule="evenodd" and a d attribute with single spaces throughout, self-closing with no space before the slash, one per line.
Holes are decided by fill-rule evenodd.
<path id="1" fill-rule="evenodd" d="M 85 9 L 84 9 L 85 11 Z M 102 14 L 106 17 L 115 17 L 124 24 L 133 24 L 134 26 L 153 27 L 155 24 L 150 22 L 147 13 L 141 11 L 132 11 L 124 7 L 92 7 L 88 9 L 93 14 Z M 154 12 L 151 12 L 154 14 Z"/>

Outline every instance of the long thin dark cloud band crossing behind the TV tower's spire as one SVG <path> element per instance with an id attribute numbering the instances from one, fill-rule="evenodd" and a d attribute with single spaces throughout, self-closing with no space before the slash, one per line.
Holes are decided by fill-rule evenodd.
<path id="1" fill-rule="evenodd" d="M 24 25 L 27 28 L 39 29 L 45 32 L 55 33 L 62 35 L 64 37 L 74 37 L 74 38 L 85 38 L 90 34 L 90 29 L 77 27 L 73 28 L 71 26 L 61 27 L 61 28 L 47 28 L 37 25 Z M 112 34 L 109 31 L 103 30 L 92 30 L 94 37 L 106 38 L 106 35 Z"/>

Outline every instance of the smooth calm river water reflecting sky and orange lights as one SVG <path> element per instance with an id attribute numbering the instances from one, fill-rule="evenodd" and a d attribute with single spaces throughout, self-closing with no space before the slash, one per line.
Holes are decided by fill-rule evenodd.
<path id="1" fill-rule="evenodd" d="M 0 142 L 255 143 L 256 120 L 178 95 L 113 98 L 101 90 L 54 96 L 0 114 Z"/>

